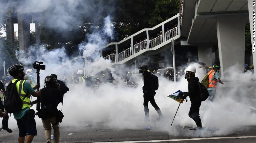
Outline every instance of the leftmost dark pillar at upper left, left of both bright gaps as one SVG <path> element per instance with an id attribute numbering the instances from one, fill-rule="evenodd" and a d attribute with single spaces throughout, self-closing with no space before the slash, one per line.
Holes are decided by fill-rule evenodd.
<path id="1" fill-rule="evenodd" d="M 13 18 L 12 12 L 7 13 L 7 20 L 6 20 L 6 39 L 7 42 L 14 43 L 14 27 L 13 27 Z"/>

